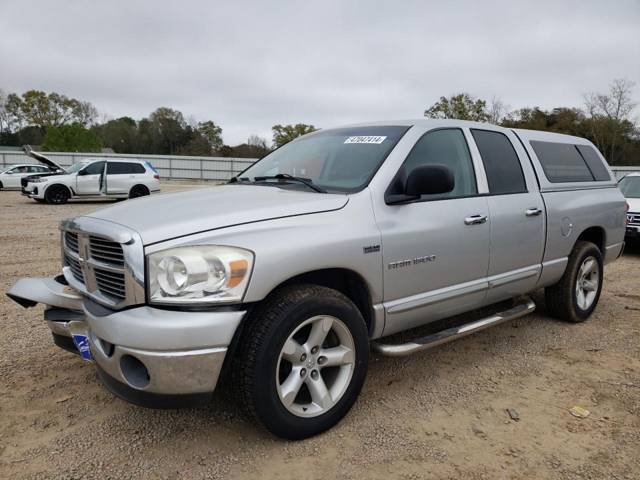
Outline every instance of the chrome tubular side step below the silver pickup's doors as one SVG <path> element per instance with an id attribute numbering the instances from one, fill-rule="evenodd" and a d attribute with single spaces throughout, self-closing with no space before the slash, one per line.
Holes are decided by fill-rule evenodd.
<path id="1" fill-rule="evenodd" d="M 445 342 L 451 342 L 451 340 L 459 339 L 460 337 L 465 337 L 466 335 L 480 332 L 480 330 L 484 330 L 485 328 L 489 328 L 490 326 L 522 317 L 524 315 L 530 314 L 535 309 L 536 304 L 531 300 L 527 300 L 525 303 L 520 303 L 513 308 L 509 308 L 509 310 L 504 310 L 504 312 L 499 312 L 490 317 L 483 318 L 476 322 L 467 323 L 463 326 L 447 328 L 447 330 L 442 330 L 442 332 L 432 333 L 431 335 L 427 335 L 426 337 L 415 339 L 407 343 L 399 345 L 389 345 L 381 344 L 378 342 L 371 342 L 371 351 L 386 356 L 411 355 L 412 353 L 417 353 L 419 351 L 433 348 Z"/>

